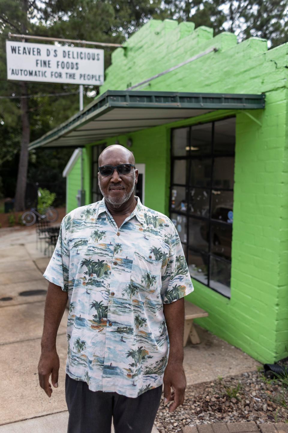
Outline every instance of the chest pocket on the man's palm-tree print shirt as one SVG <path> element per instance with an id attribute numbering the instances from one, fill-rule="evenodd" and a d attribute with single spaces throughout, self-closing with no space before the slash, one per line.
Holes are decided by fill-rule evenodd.
<path id="1" fill-rule="evenodd" d="M 134 252 L 131 270 L 131 285 L 134 291 L 145 291 L 154 294 L 161 290 L 162 260 L 152 259 Z"/>

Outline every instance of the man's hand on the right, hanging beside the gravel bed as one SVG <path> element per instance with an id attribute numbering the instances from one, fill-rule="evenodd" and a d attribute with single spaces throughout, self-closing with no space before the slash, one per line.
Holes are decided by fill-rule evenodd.
<path id="1" fill-rule="evenodd" d="M 164 404 L 173 401 L 169 406 L 169 412 L 173 412 L 180 404 L 184 403 L 186 376 L 181 363 L 170 363 L 165 368 L 164 377 Z M 171 388 L 173 391 L 171 392 Z"/>

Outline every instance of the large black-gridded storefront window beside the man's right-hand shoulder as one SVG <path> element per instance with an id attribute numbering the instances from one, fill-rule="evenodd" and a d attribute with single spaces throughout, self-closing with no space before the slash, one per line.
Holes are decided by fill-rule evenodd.
<path id="1" fill-rule="evenodd" d="M 235 118 L 171 134 L 170 217 L 191 277 L 230 297 Z"/>

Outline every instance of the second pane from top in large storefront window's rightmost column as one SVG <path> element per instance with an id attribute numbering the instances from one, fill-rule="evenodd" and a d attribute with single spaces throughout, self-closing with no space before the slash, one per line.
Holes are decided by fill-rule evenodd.
<path id="1" fill-rule="evenodd" d="M 234 187 L 234 156 L 231 158 L 215 158 L 212 186 L 215 188 L 233 189 Z"/>

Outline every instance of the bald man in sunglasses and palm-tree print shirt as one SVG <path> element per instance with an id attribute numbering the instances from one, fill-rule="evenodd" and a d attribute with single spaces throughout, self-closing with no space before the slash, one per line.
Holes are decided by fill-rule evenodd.
<path id="1" fill-rule="evenodd" d="M 169 412 L 184 402 L 184 296 L 193 286 L 171 220 L 132 194 L 137 178 L 132 152 L 104 149 L 98 172 L 104 198 L 65 216 L 44 273 L 38 372 L 48 397 L 50 375 L 58 387 L 56 335 L 70 300 L 68 433 L 110 433 L 112 417 L 115 433 L 150 433 L 163 382 Z"/>

